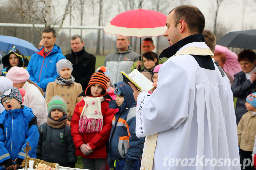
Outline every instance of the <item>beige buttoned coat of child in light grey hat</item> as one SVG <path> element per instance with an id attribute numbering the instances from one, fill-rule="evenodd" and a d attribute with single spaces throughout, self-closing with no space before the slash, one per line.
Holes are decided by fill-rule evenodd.
<path id="1" fill-rule="evenodd" d="M 74 82 L 72 86 L 65 86 L 65 85 L 61 86 L 57 84 L 56 81 L 54 81 L 54 82 L 50 82 L 47 85 L 45 100 L 48 106 L 53 96 L 58 95 L 62 97 L 65 100 L 67 105 L 67 115 L 68 117 L 70 117 L 73 115 L 76 104 L 80 102 L 83 98 L 82 96 L 77 97 L 82 91 L 83 90 L 80 83 Z"/>

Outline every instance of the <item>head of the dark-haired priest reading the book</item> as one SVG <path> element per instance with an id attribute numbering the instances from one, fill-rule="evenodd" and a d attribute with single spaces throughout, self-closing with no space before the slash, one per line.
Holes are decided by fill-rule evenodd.
<path id="1" fill-rule="evenodd" d="M 167 29 L 163 36 L 170 45 L 193 34 L 202 34 L 205 18 L 201 11 L 191 5 L 181 5 L 169 12 L 166 19 Z"/>

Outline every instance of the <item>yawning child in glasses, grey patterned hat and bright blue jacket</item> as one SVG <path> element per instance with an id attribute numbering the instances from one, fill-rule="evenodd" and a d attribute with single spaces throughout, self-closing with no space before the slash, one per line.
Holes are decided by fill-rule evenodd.
<path id="1" fill-rule="evenodd" d="M 27 142 L 31 147 L 28 156 L 36 158 L 37 118 L 31 108 L 21 105 L 22 96 L 15 87 L 2 91 L 1 103 L 6 110 L 0 116 L 0 165 L 8 170 L 19 169 Z"/>

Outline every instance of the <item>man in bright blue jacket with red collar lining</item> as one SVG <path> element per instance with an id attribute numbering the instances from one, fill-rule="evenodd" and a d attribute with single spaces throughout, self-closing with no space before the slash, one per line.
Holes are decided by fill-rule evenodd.
<path id="1" fill-rule="evenodd" d="M 58 76 L 56 63 L 65 58 L 60 47 L 55 45 L 56 32 L 52 28 L 42 31 L 43 47 L 31 56 L 27 70 L 30 80 L 46 91 L 49 82 L 55 81 Z"/>

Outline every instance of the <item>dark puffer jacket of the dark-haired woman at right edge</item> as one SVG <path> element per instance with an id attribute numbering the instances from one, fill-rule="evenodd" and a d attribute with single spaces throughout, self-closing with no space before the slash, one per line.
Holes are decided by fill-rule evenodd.
<path id="1" fill-rule="evenodd" d="M 249 94 L 256 92 L 256 82 L 252 83 L 246 78 L 245 73 L 240 71 L 234 75 L 234 82 L 231 90 L 233 92 L 233 96 L 237 97 L 235 112 L 238 124 L 243 114 L 247 112 L 247 109 L 244 105 L 246 103 L 246 97 Z"/>

